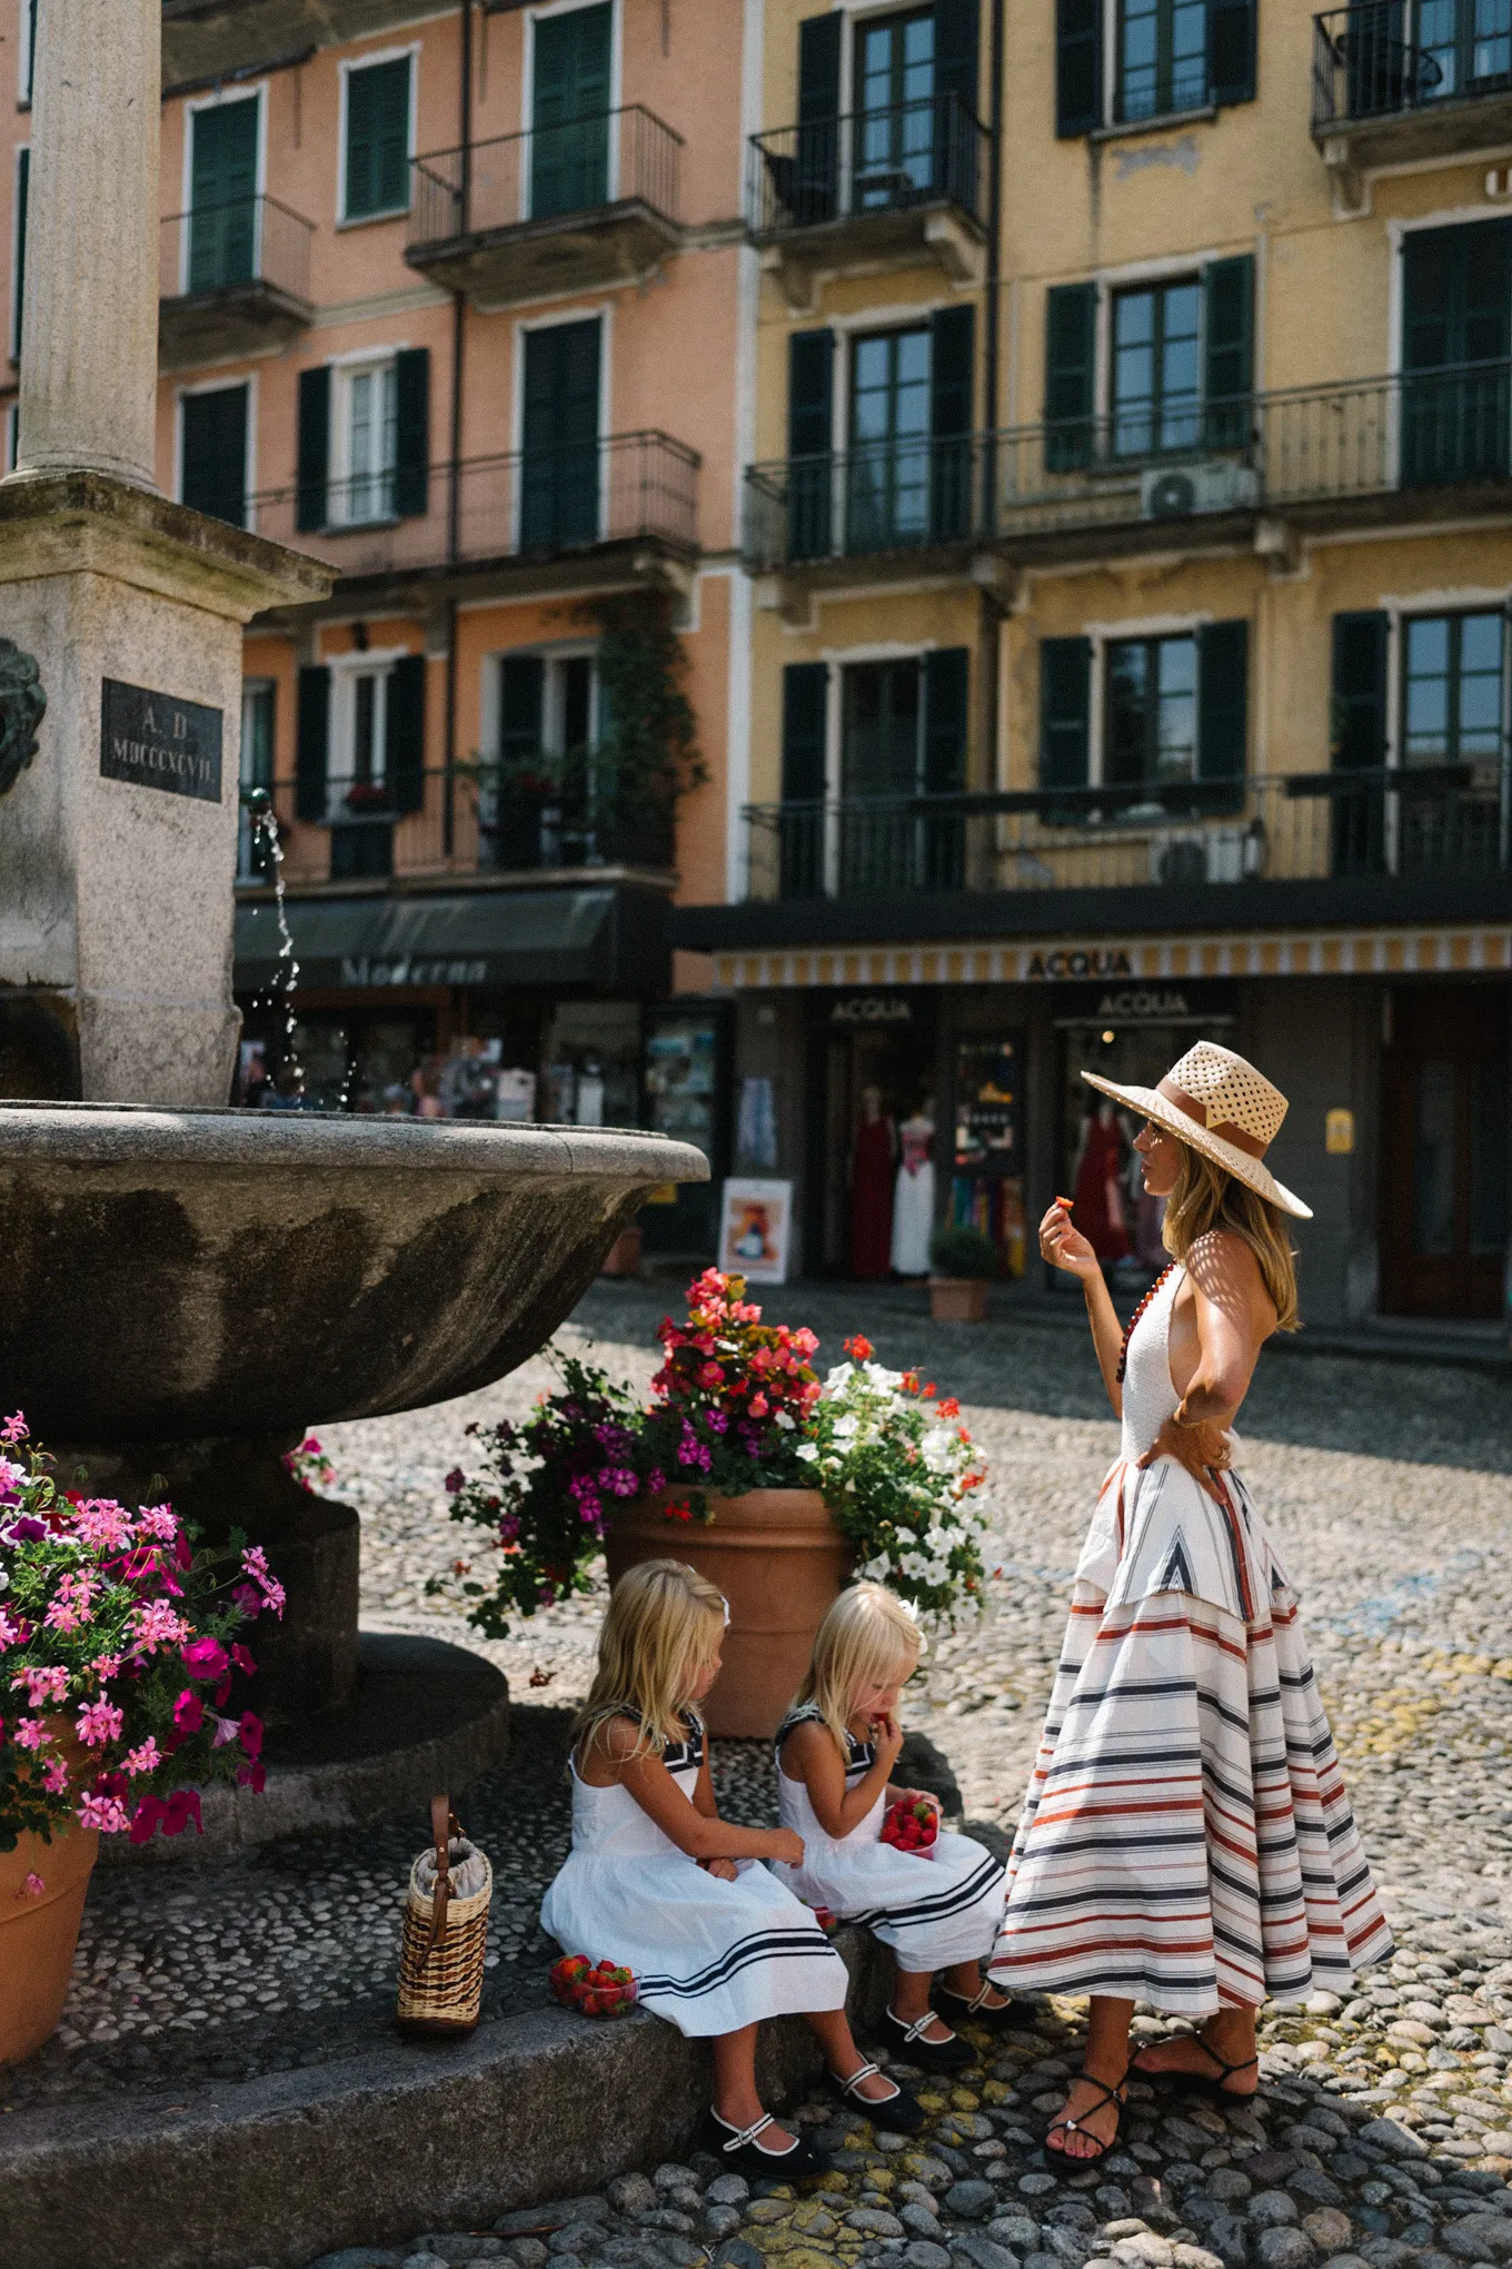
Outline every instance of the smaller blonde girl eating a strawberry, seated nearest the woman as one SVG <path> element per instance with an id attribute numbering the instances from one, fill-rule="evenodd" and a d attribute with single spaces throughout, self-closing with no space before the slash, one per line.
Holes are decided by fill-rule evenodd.
<path id="1" fill-rule="evenodd" d="M 882 1842 L 889 1804 L 936 1799 L 893 1788 L 902 1747 L 898 1695 L 914 1677 L 923 1640 L 882 1584 L 843 1591 L 814 1638 L 814 1661 L 778 1727 L 778 1811 L 802 1836 L 802 1861 L 778 1874 L 809 1906 L 866 1924 L 898 1956 L 898 1990 L 884 2017 L 893 2053 L 929 2072 L 975 2063 L 968 2044 L 929 2008 L 941 2001 L 993 2031 L 1013 2004 L 982 1981 L 979 1963 L 1002 1922 L 1002 1863 L 968 1836 L 938 1836 L 927 1852 Z M 938 1827 L 938 1817 L 936 1817 Z"/>

